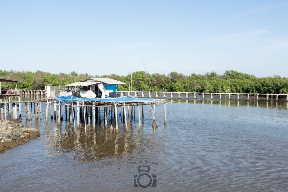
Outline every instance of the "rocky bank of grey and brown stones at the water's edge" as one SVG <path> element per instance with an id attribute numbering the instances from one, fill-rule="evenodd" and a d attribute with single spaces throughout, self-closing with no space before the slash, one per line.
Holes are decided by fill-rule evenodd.
<path id="1" fill-rule="evenodd" d="M 40 132 L 33 127 L 24 127 L 12 121 L 0 120 L 0 152 L 39 136 Z"/>

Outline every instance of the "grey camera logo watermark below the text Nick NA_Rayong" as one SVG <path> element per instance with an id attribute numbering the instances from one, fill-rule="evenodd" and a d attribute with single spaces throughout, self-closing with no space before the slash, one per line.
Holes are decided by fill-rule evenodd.
<path id="1" fill-rule="evenodd" d="M 141 168 L 147 168 L 144 170 L 141 170 Z M 134 187 L 156 187 L 157 186 L 157 176 L 155 174 L 150 174 L 150 167 L 149 166 L 139 166 L 138 167 L 138 175 L 134 175 Z M 141 178 L 142 177 L 142 178 Z M 140 182 L 146 178 L 149 183 L 147 185 L 142 185 Z M 144 179 L 145 180 L 145 179 Z"/>

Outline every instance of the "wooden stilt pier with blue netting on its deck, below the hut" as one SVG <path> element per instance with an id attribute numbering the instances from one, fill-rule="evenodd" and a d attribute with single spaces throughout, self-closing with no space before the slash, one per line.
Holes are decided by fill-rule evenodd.
<path id="1" fill-rule="evenodd" d="M 46 104 L 46 112 L 41 109 L 41 103 Z M 25 113 L 26 121 L 32 121 L 33 118 L 42 119 L 42 113 L 45 114 L 46 124 L 48 123 L 48 118 L 60 122 L 64 120 L 63 114 L 65 114 L 65 120 L 69 120 L 71 128 L 74 127 L 75 133 L 79 132 L 79 129 L 85 128 L 86 135 L 87 129 L 93 127 L 95 129 L 96 124 L 103 125 L 103 128 L 107 129 L 110 127 L 110 132 L 118 132 L 118 124 L 121 121 L 125 124 L 125 129 L 128 131 L 128 124 L 132 123 L 133 119 L 133 107 L 134 114 L 138 107 L 138 130 L 141 130 L 141 115 L 140 106 L 142 106 L 142 124 L 144 123 L 144 113 L 143 106 L 152 106 L 152 127 L 157 128 L 158 122 L 155 120 L 155 106 L 159 104 L 164 104 L 164 125 L 166 125 L 166 99 L 148 99 L 148 98 L 132 98 L 132 97 L 120 97 L 111 99 L 84 99 L 77 97 L 56 97 L 56 98 L 43 98 L 34 101 L 21 101 L 19 97 L 18 101 L 0 101 L 1 104 L 1 116 L 0 119 L 10 119 L 17 120 L 21 119 L 21 115 Z M 21 108 L 22 106 L 22 108 Z M 54 106 L 54 108 L 53 108 Z M 8 107 L 8 113 L 7 108 Z M 129 109 L 131 107 L 131 115 L 129 114 Z M 24 108 L 24 112 L 23 112 Z M 126 110 L 127 109 L 127 110 Z M 65 112 L 63 113 L 63 110 Z M 123 113 L 122 113 L 123 110 Z M 126 114 L 128 111 L 128 114 Z M 122 113 L 122 114 L 121 114 Z M 102 116 L 103 115 L 103 116 Z M 111 116 L 108 120 L 108 116 Z M 118 117 L 119 115 L 119 117 Z M 130 116 L 129 116 L 130 115 Z M 102 116 L 102 117 L 101 117 Z M 118 119 L 119 118 L 119 119 Z M 128 122 L 130 118 L 130 123 Z M 135 119 L 135 116 L 134 116 Z M 84 123 L 84 127 L 83 127 Z M 92 123 L 92 125 L 90 125 Z M 82 126 L 82 127 L 81 127 Z M 113 128 L 114 126 L 114 128 Z M 77 131 L 77 130 L 78 131 Z"/>

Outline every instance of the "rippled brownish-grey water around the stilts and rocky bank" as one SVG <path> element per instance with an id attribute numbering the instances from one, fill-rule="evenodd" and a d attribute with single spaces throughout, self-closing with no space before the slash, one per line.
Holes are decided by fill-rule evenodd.
<path id="1" fill-rule="evenodd" d="M 119 133 L 101 125 L 87 137 L 69 121 L 46 125 L 45 112 L 24 120 L 41 136 L 0 153 L 0 191 L 288 191 L 286 101 L 174 99 L 166 126 L 156 106 L 158 129 L 150 108 L 139 132 L 136 112 L 128 132 L 120 120 Z M 156 187 L 134 187 L 134 176 L 149 185 L 147 175 Z"/>

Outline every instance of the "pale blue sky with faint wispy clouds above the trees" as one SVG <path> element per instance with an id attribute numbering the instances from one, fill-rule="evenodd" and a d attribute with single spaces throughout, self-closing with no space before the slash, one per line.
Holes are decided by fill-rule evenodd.
<path id="1" fill-rule="evenodd" d="M 2 70 L 126 75 L 141 51 L 149 73 L 288 77 L 288 1 L 0 0 Z"/>

